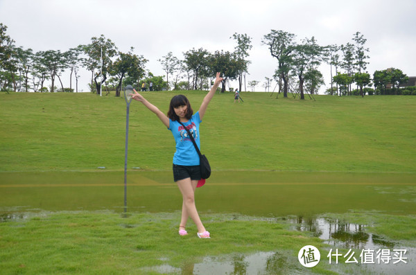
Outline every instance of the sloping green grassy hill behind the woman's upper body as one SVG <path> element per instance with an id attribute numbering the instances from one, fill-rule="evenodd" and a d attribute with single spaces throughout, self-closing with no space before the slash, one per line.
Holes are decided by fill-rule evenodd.
<path id="1" fill-rule="evenodd" d="M 203 91 L 182 91 L 196 112 Z M 144 92 L 167 112 L 172 91 Z M 276 94 L 275 94 L 276 95 Z M 416 97 L 216 94 L 201 124 L 214 170 L 416 172 Z M 125 101 L 114 94 L 0 93 L 0 171 L 123 170 Z M 128 167 L 170 170 L 171 132 L 130 105 Z"/>

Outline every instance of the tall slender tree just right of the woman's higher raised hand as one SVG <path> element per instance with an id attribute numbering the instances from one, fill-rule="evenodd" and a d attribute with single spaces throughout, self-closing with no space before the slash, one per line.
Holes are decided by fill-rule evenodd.
<path id="1" fill-rule="evenodd" d="M 238 34 L 234 33 L 232 37 L 237 42 L 237 46 L 234 48 L 234 53 L 236 54 L 237 60 L 239 62 L 239 91 L 241 91 L 241 86 L 243 84 L 243 73 L 248 72 L 248 64 L 251 62 L 249 60 L 245 60 L 249 56 L 248 51 L 251 50 L 251 37 L 247 34 Z"/>

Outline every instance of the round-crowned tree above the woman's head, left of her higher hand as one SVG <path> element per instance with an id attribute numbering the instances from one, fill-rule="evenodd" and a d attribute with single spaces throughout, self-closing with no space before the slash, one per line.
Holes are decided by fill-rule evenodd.
<path id="1" fill-rule="evenodd" d="M 193 71 L 193 89 L 198 89 L 198 77 L 207 75 L 207 57 L 209 52 L 203 48 L 191 50 L 184 53 L 184 63 L 187 65 L 187 69 Z"/>

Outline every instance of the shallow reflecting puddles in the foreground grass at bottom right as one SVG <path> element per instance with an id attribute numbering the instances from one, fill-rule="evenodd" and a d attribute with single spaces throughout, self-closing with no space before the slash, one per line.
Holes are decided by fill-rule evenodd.
<path id="1" fill-rule="evenodd" d="M 293 230 L 308 231 L 313 236 L 331 245 L 333 249 L 406 249 L 406 264 L 358 263 L 344 265 L 329 265 L 327 254 L 321 251 L 321 261 L 326 262 L 328 269 L 334 272 L 351 274 L 416 274 L 416 249 L 413 247 L 399 247 L 395 242 L 389 242 L 372 233 L 367 233 L 366 224 L 352 224 L 343 220 L 329 218 L 284 218 L 293 225 Z M 345 259 L 343 259 L 345 260 Z M 342 262 L 340 260 L 340 262 Z M 198 263 L 187 263 L 181 268 L 171 265 L 145 267 L 144 270 L 160 274 L 308 274 L 313 270 L 304 269 L 298 259 L 291 255 L 291 251 L 260 251 L 255 254 L 228 254 L 223 256 L 207 256 Z"/>

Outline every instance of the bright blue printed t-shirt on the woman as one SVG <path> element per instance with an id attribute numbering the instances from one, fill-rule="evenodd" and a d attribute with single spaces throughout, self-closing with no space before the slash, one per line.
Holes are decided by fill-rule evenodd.
<path id="1" fill-rule="evenodd" d="M 199 112 L 196 112 L 187 123 L 182 123 L 188 128 L 189 132 L 191 132 L 198 148 L 200 148 L 199 125 L 201 122 Z M 171 118 L 169 118 L 168 130 L 171 130 L 176 143 L 173 164 L 182 166 L 199 165 L 198 152 L 196 152 L 195 146 L 193 146 L 187 130 L 185 130 L 177 121 L 172 121 Z"/>

